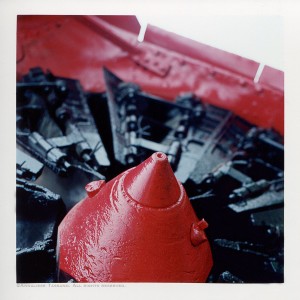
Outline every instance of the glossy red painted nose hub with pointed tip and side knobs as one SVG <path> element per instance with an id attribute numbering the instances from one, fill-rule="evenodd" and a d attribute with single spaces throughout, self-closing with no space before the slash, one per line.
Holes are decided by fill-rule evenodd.
<path id="1" fill-rule="evenodd" d="M 207 223 L 165 154 L 87 189 L 59 226 L 61 271 L 79 282 L 205 282 Z"/>

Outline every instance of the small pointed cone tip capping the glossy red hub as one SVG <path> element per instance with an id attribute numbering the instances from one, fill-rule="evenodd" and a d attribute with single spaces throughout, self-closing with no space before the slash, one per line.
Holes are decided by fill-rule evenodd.
<path id="1" fill-rule="evenodd" d="M 168 158 L 162 152 L 152 154 L 130 170 L 124 179 L 124 186 L 135 201 L 153 208 L 175 204 L 181 193 Z"/>

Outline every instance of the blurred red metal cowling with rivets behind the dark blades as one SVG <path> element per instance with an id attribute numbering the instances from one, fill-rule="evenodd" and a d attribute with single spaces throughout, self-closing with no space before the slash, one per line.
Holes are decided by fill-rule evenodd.
<path id="1" fill-rule="evenodd" d="M 106 66 L 150 93 L 172 100 L 194 92 L 255 125 L 284 133 L 282 72 L 266 67 L 254 83 L 254 61 L 153 26 L 138 43 L 137 29 L 132 16 L 89 16 L 85 22 L 82 16 L 18 16 L 17 74 L 40 66 L 79 79 L 87 90 L 103 91 L 101 68 Z"/>

